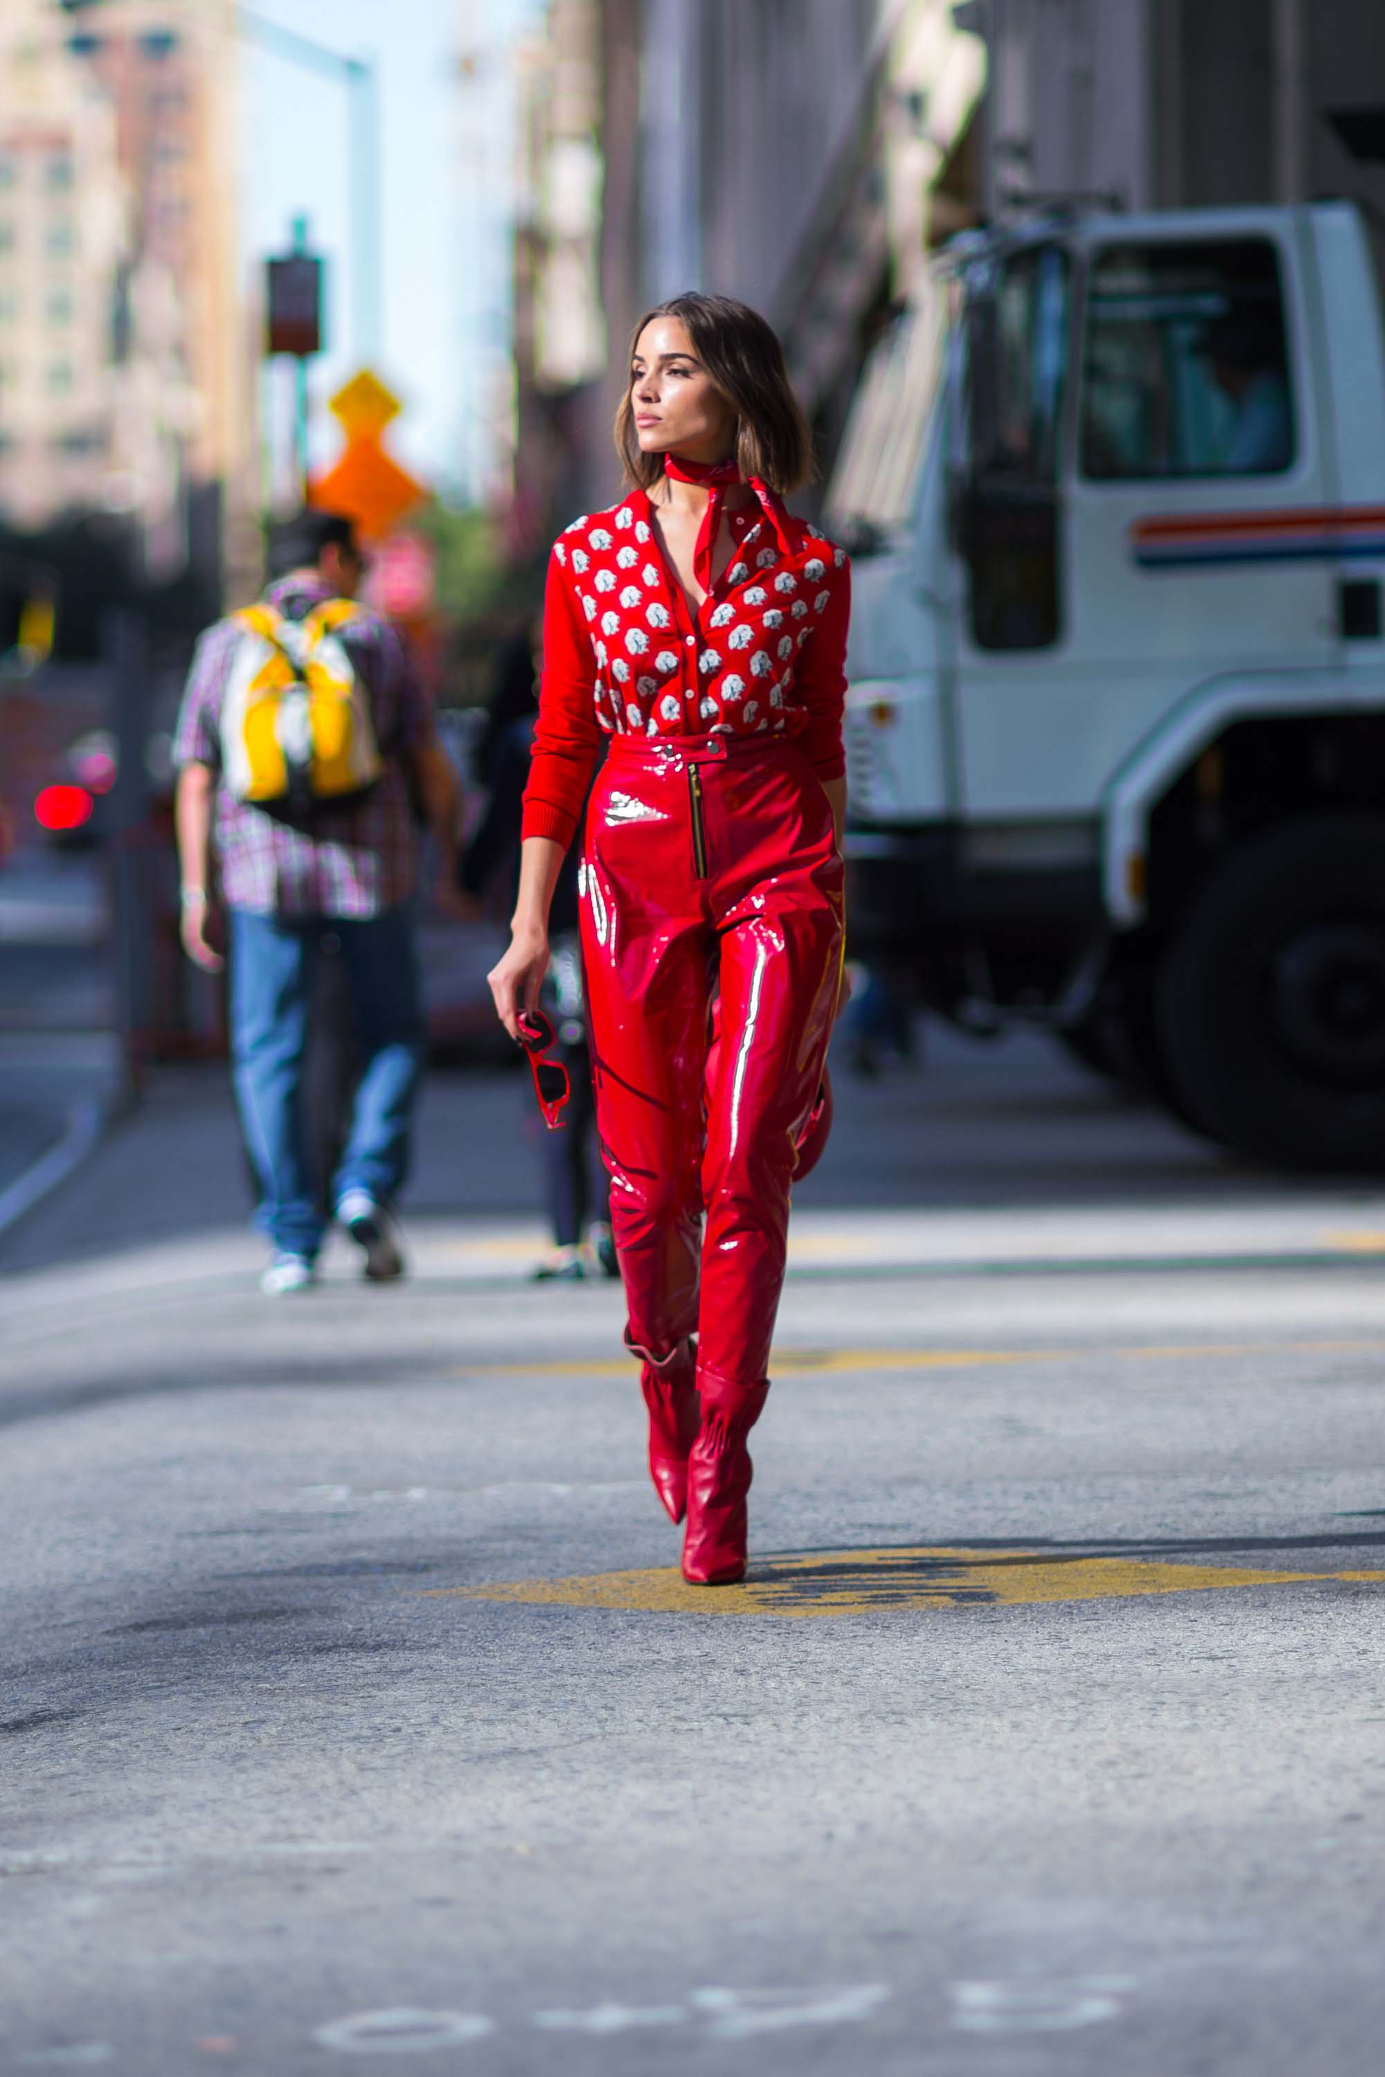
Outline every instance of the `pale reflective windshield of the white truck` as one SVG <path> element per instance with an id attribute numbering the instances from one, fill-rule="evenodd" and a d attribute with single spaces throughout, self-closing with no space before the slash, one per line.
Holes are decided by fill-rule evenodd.
<path id="1" fill-rule="evenodd" d="M 891 320 L 866 361 L 824 498 L 831 532 L 856 555 L 872 534 L 889 534 L 914 513 L 945 332 L 947 289 L 930 282 L 924 301 Z"/>

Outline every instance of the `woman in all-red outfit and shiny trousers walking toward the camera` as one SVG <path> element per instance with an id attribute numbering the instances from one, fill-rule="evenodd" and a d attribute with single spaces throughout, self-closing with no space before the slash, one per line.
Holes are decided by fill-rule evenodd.
<path id="1" fill-rule="evenodd" d="M 629 480 L 552 550 L 509 951 L 511 1036 L 602 733 L 581 864 L 596 1115 L 683 1576 L 745 1574 L 797 1140 L 841 991 L 849 569 L 781 498 L 810 440 L 768 324 L 681 295 L 640 320 Z M 708 1078 L 710 1009 L 721 1043 Z"/>

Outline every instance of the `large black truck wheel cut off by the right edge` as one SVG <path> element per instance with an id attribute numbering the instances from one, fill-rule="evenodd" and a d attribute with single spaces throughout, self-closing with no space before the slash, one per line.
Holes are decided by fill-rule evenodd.
<path id="1" fill-rule="evenodd" d="M 1217 1138 L 1385 1171 L 1385 820 L 1304 816 L 1238 845 L 1188 908 L 1155 1011 L 1171 1082 Z"/>

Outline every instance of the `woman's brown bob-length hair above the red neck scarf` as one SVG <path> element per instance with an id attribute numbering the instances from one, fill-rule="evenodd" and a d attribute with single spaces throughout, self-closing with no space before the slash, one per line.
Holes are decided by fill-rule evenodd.
<path id="1" fill-rule="evenodd" d="M 640 334 L 654 318 L 677 318 L 687 326 L 694 353 L 721 395 L 735 407 L 735 461 L 741 478 L 762 478 L 770 490 L 787 496 L 812 478 L 812 434 L 804 407 L 793 395 L 783 347 L 770 324 L 750 303 L 731 295 L 675 295 L 646 309 L 629 334 L 629 361 Z M 625 476 L 650 490 L 664 474 L 664 457 L 646 455 L 635 436 L 635 407 L 629 374 L 625 395 L 615 415 L 615 451 Z"/>

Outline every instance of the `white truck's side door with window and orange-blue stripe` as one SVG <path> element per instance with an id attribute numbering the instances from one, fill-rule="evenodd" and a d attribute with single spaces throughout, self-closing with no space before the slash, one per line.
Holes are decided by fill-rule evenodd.
<path id="1" fill-rule="evenodd" d="M 1092 231 L 1082 258 L 1047 617 L 1003 611 L 970 557 L 959 710 L 974 818 L 1094 816 L 1113 771 L 1198 683 L 1333 656 L 1285 220 Z M 1003 295 L 997 314 L 1003 332 Z"/>

